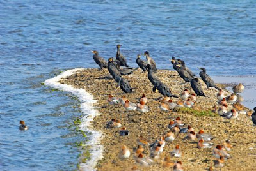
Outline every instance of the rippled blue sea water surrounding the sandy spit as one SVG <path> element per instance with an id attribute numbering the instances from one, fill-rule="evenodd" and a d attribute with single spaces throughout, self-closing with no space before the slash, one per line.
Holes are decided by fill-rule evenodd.
<path id="1" fill-rule="evenodd" d="M 81 115 L 78 102 L 40 83 L 98 67 L 90 50 L 107 59 L 120 43 L 131 66 L 148 50 L 158 68 L 172 69 L 176 56 L 197 74 L 204 66 L 230 82 L 252 80 L 255 9 L 255 1 L 1 0 L 0 170 L 76 170 L 74 143 L 84 138 L 69 123 Z M 28 131 L 19 131 L 20 119 Z"/>

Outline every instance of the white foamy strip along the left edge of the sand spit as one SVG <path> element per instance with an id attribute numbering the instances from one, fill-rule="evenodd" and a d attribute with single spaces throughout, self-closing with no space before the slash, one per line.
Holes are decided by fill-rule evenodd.
<path id="1" fill-rule="evenodd" d="M 73 75 L 77 71 L 81 71 L 83 69 L 76 68 L 73 70 L 67 70 L 60 75 L 45 80 L 44 84 L 47 86 L 54 87 L 56 89 L 60 89 L 62 91 L 67 91 L 79 98 L 81 101 L 81 111 L 84 113 L 84 117 L 81 119 L 80 129 L 90 133 L 89 140 L 86 142 L 86 145 L 90 146 L 90 160 L 86 161 L 86 163 L 80 164 L 81 170 L 95 170 L 94 167 L 98 160 L 103 158 L 103 145 L 100 145 L 100 138 L 102 137 L 102 133 L 99 131 L 92 130 L 92 126 L 90 126 L 90 122 L 93 121 L 93 118 L 96 115 L 99 115 L 99 111 L 95 110 L 93 107 L 93 103 L 96 103 L 97 100 L 93 99 L 92 94 L 86 92 L 84 89 L 75 89 L 72 85 L 60 84 L 58 82 L 61 78 L 68 77 Z"/>

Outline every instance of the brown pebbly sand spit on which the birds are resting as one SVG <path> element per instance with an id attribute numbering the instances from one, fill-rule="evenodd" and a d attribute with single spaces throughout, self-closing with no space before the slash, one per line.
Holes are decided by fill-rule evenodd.
<path id="1" fill-rule="evenodd" d="M 168 123 L 171 119 L 180 117 L 186 125 L 191 125 L 196 132 L 200 129 L 205 133 L 213 135 L 214 147 L 221 145 L 225 140 L 230 140 L 232 150 L 229 154 L 232 156 L 225 162 L 225 167 L 221 170 L 254 170 L 256 162 L 256 128 L 252 126 L 252 121 L 246 115 L 239 114 L 239 117 L 230 123 L 218 115 L 199 116 L 193 112 L 185 110 L 173 110 L 170 112 L 161 112 L 157 106 L 160 102 L 155 99 L 161 96 L 159 93 L 152 92 L 152 84 L 147 78 L 147 73 L 141 73 L 137 70 L 132 75 L 124 76 L 129 80 L 134 93 L 126 94 L 127 98 L 136 103 L 142 94 L 146 94 L 148 98 L 147 105 L 150 107 L 150 112 L 140 114 L 139 112 L 127 112 L 121 105 L 112 106 L 106 101 L 108 94 L 113 94 L 116 97 L 121 97 L 124 94 L 119 89 L 115 92 L 116 82 L 106 78 L 108 70 L 104 69 L 84 69 L 66 79 L 61 80 L 61 84 L 71 84 L 75 88 L 83 88 L 89 93 L 92 93 L 98 101 L 95 106 L 101 115 L 95 117 L 92 126 L 93 129 L 102 131 L 104 137 L 101 140 L 104 145 L 104 158 L 100 160 L 96 166 L 97 170 L 131 170 L 131 167 L 136 165 L 133 158 L 134 149 L 138 146 L 136 139 L 143 135 L 149 142 L 154 142 L 161 135 L 170 131 Z M 159 70 L 157 76 L 167 84 L 173 94 L 180 95 L 186 88 L 189 92 L 193 92 L 190 84 L 184 84 L 182 78 L 177 75 L 176 71 Z M 210 98 L 197 97 L 198 107 L 196 110 L 205 111 L 211 110 L 212 106 L 217 103 L 216 89 L 206 89 L 204 82 L 201 82 L 204 92 Z M 218 84 L 218 86 L 223 86 Z M 226 92 L 226 94 L 230 94 Z M 175 98 L 173 98 L 175 100 Z M 229 105 L 229 108 L 231 105 Z M 106 128 L 106 123 L 112 118 L 120 119 L 122 126 L 125 126 L 130 131 L 129 136 L 120 137 L 120 128 Z M 140 167 L 139 170 L 170 170 L 163 167 L 163 160 L 166 156 L 170 156 L 170 151 L 175 149 L 175 145 L 179 144 L 182 150 L 181 158 L 171 158 L 173 162 L 182 161 L 184 170 L 207 170 L 213 165 L 212 149 L 197 149 L 196 142 L 182 140 L 186 134 L 180 134 L 172 143 L 166 143 L 164 151 L 158 160 L 154 160 L 154 164 L 150 167 Z M 120 160 L 118 154 L 120 146 L 126 145 L 131 156 L 127 160 Z M 149 156 L 149 147 L 145 149 L 145 155 Z M 214 168 L 215 169 L 215 168 Z"/>

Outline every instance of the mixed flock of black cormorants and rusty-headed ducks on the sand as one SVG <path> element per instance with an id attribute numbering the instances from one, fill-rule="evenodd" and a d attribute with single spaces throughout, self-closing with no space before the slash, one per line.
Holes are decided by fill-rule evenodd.
<path id="1" fill-rule="evenodd" d="M 116 59 L 109 58 L 108 63 L 102 57 L 99 57 L 99 53 L 97 51 L 92 51 L 94 54 L 93 59 L 97 64 L 99 64 L 101 69 L 104 67 L 108 68 L 109 73 L 117 83 L 116 90 L 120 88 L 122 89 L 122 91 L 124 91 L 124 93 L 132 93 L 132 87 L 129 84 L 129 81 L 122 77 L 122 75 L 132 74 L 132 72 L 134 70 L 137 70 L 138 68 L 129 68 L 125 57 L 120 52 L 120 47 L 121 45 L 117 45 Z M 172 57 L 170 61 L 173 64 L 173 69 L 175 69 L 179 73 L 179 76 L 184 80 L 185 83 L 190 82 L 190 85 L 195 93 L 189 93 L 188 89 L 184 89 L 182 94 L 178 96 L 172 94 L 170 88 L 166 84 L 161 82 L 161 80 L 156 76 L 156 63 L 154 62 L 154 59 L 150 57 L 148 51 L 144 53 L 144 56 L 146 56 L 147 61 L 141 60 L 141 56 L 138 55 L 136 63 L 141 68 L 141 70 L 143 70 L 143 72 L 148 71 L 148 79 L 153 85 L 153 92 L 159 92 L 163 95 L 162 98 L 157 99 L 157 101 L 161 101 L 161 104 L 159 105 L 160 110 L 166 112 L 177 107 L 194 108 L 196 107 L 197 96 L 204 96 L 206 98 L 209 98 L 204 94 L 199 79 L 195 77 L 195 74 L 191 70 L 189 70 L 184 61 L 182 61 L 181 59 L 175 59 L 175 57 Z M 122 68 L 122 70 L 120 70 L 120 66 L 125 66 L 126 68 Z M 243 84 L 240 83 L 234 86 L 232 88 L 234 93 L 226 97 L 224 91 L 217 87 L 216 84 L 214 84 L 212 78 L 207 75 L 205 68 L 200 68 L 200 70 L 202 70 L 200 71 L 200 77 L 206 84 L 207 89 L 209 89 L 209 87 L 213 87 L 215 89 L 218 89 L 219 91 L 216 94 L 218 105 L 214 107 L 213 112 L 216 112 L 222 117 L 225 117 L 225 119 L 236 119 L 239 112 L 244 112 L 243 105 L 239 103 L 239 93 L 243 92 L 244 90 Z M 174 102 L 172 98 L 179 98 L 179 100 Z M 122 107 L 124 107 L 125 110 L 128 111 L 137 110 L 141 113 L 148 112 L 150 108 L 147 106 L 147 97 L 145 96 L 145 94 L 143 94 L 139 99 L 140 100 L 138 103 L 132 103 L 131 101 L 129 101 L 129 99 L 127 99 L 125 95 L 121 98 L 117 98 L 114 97 L 112 94 L 109 94 L 107 101 L 109 105 L 122 105 Z M 230 111 L 227 108 L 228 103 L 230 103 L 233 107 Z M 256 107 L 254 108 L 254 110 L 254 112 L 250 110 L 246 114 L 252 117 L 253 123 L 256 124 Z M 198 133 L 195 133 L 194 128 L 192 128 L 190 125 L 184 125 L 185 124 L 182 123 L 180 117 L 177 117 L 176 119 L 170 121 L 170 124 L 168 125 L 170 131 L 166 133 L 166 135 L 161 136 L 152 144 L 150 144 L 148 140 L 143 136 L 138 137 L 138 139 L 136 140 L 138 148 L 134 152 L 134 160 L 136 161 L 136 163 L 144 167 L 152 165 L 152 163 L 154 163 L 154 160 L 152 159 L 159 158 L 161 152 L 163 152 L 164 150 L 164 146 L 166 145 L 166 143 L 173 142 L 175 138 L 177 138 L 177 135 L 182 133 L 187 133 L 186 137 L 184 137 L 183 140 L 197 140 L 197 148 L 212 148 L 213 144 L 211 140 L 214 138 L 212 135 L 204 133 L 203 130 L 199 130 Z M 111 121 L 108 122 L 107 127 L 121 128 L 120 136 L 129 135 L 129 130 L 127 130 L 127 128 L 125 127 L 122 127 L 122 124 L 118 119 L 111 119 Z M 143 153 L 146 147 L 149 147 L 150 156 L 146 156 Z M 221 168 L 224 166 L 225 160 L 228 160 L 228 158 L 231 157 L 230 154 L 228 154 L 227 152 L 230 150 L 231 144 L 229 140 L 214 147 L 214 149 L 212 150 L 212 154 L 214 157 L 217 158 L 217 160 L 214 160 L 214 167 Z M 121 159 L 125 159 L 129 158 L 130 156 L 131 151 L 127 148 L 127 146 L 122 146 L 120 149 L 119 157 Z M 179 145 L 176 145 L 175 149 L 170 152 L 170 156 L 173 156 L 175 158 L 180 158 L 182 156 L 182 151 Z M 170 160 L 170 157 L 165 158 L 163 165 L 168 168 L 172 167 L 173 170 L 183 170 L 182 161 L 177 161 L 173 163 Z M 136 167 L 134 167 L 133 170 L 136 170 Z"/>

